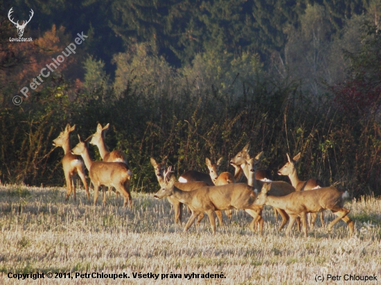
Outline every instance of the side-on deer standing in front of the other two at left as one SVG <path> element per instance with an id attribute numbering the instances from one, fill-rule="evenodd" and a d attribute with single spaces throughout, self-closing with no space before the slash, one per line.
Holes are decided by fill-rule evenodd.
<path id="1" fill-rule="evenodd" d="M 80 138 L 80 143 L 76 145 L 71 151 L 73 154 L 82 156 L 85 161 L 85 165 L 89 170 L 89 176 L 91 183 L 94 185 L 94 205 L 98 200 L 99 187 L 102 186 L 103 190 L 103 205 L 106 203 L 105 187 L 115 187 L 116 191 L 122 194 L 124 198 L 123 206 L 127 205 L 127 202 L 132 207 L 132 198 L 130 194 L 130 178 L 131 172 L 125 163 L 106 163 L 105 161 L 93 161 L 89 155 L 89 140 L 83 141 Z"/>

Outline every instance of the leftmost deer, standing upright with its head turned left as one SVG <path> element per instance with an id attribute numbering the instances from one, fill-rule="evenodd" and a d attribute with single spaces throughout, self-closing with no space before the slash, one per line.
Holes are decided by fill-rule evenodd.
<path id="1" fill-rule="evenodd" d="M 90 201 L 89 187 L 87 186 L 87 181 L 85 178 L 85 165 L 80 156 L 71 154 L 70 148 L 70 133 L 76 129 L 76 125 L 70 127 L 69 124 L 65 127 L 64 131 L 60 132 L 60 136 L 53 140 L 53 145 L 55 147 L 62 147 L 64 149 L 64 158 L 62 158 L 62 167 L 64 168 L 65 180 L 67 184 L 67 195 L 66 200 L 69 199 L 71 192 L 73 192 L 74 201 L 76 201 L 76 185 L 74 183 L 74 178 L 76 174 L 80 176 L 83 185 L 85 186 L 87 199 Z"/>

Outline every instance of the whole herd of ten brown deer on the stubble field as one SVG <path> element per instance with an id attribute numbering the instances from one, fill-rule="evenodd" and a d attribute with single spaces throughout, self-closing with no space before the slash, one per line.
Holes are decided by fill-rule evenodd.
<path id="1" fill-rule="evenodd" d="M 106 187 L 115 187 L 116 195 L 118 196 L 120 193 L 124 198 L 123 205 L 126 206 L 128 203 L 132 207 L 130 194 L 132 171 L 123 152 L 116 150 L 109 152 L 105 145 L 105 134 L 109 129 L 109 124 L 105 127 L 98 124 L 96 133 L 86 140 L 81 140 L 78 135 L 80 143 L 71 149 L 69 136 L 74 129 L 75 125 L 70 127 L 68 124 L 60 136 L 53 140 L 53 145 L 64 149 L 62 165 L 67 182 L 66 199 L 69 199 L 73 192 L 73 198 L 76 200 L 73 176 L 78 174 L 85 186 L 87 199 L 90 201 L 89 188 L 85 179 L 86 166 L 91 183 L 94 185 L 94 205 L 98 199 L 99 187 L 102 186 L 103 205 L 106 202 Z M 98 147 L 103 161 L 91 160 L 88 143 Z M 347 191 L 342 192 L 333 186 L 324 187 L 317 179 L 300 181 L 296 173 L 296 163 L 301 158 L 300 153 L 294 158 L 290 158 L 287 154 L 288 162 L 278 170 L 278 174 L 290 178 L 291 185 L 284 181 L 272 181 L 272 174 L 268 169 L 257 170 L 262 156 L 263 152 L 255 158 L 251 158 L 248 144 L 230 161 L 230 165 L 235 168 L 234 175 L 229 172 L 218 173 L 219 167 L 222 165 L 222 158 L 216 164 L 206 158 L 209 174 L 188 170 L 179 177 L 178 181 L 175 176 L 170 175 L 171 168 L 166 169 L 167 158 L 163 158 L 161 163 L 150 158 L 150 163 L 154 167 L 157 180 L 161 185 L 161 190 L 154 194 L 154 197 L 157 199 L 168 198 L 175 212 L 175 223 L 181 223 L 182 204 L 188 205 L 191 216 L 186 223 L 184 232 L 193 225 L 196 219 L 198 225 L 206 213 L 211 223 L 211 229 L 215 233 L 214 213 L 222 226 L 221 211 L 227 211 L 227 217 L 230 219 L 233 209 L 243 209 L 253 217 L 249 228 L 252 231 L 259 228 L 260 235 L 262 235 L 263 205 L 271 205 L 276 217 L 277 213 L 282 217 L 278 230 L 281 230 L 290 219 L 286 235 L 290 234 L 294 222 L 297 221 L 299 230 L 302 225 L 303 233 L 307 237 L 308 213 L 311 214 L 310 225 L 312 227 L 318 212 L 321 214 L 321 225 L 324 226 L 324 210 L 331 210 L 337 216 L 328 224 L 328 232 L 331 232 L 335 223 L 342 219 L 347 223 L 350 235 L 353 234 L 353 221 L 347 216 L 349 210 L 344 208 L 344 200 L 349 197 Z M 247 184 L 240 183 L 243 176 L 246 176 Z"/>

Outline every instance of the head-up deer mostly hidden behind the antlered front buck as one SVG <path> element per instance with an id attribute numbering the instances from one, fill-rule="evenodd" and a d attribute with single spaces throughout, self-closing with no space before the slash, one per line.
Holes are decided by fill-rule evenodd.
<path id="1" fill-rule="evenodd" d="M 150 163 L 154 167 L 154 174 L 156 174 L 157 176 L 157 181 L 159 182 L 159 184 L 163 183 L 164 171 L 166 169 L 166 164 L 167 164 L 167 156 L 163 158 L 163 161 L 161 161 L 161 163 L 157 163 L 157 161 L 153 157 L 151 157 Z M 197 188 L 204 187 L 207 185 L 208 184 L 202 181 L 193 181 L 188 183 L 180 183 L 180 182 L 175 183 L 175 186 L 183 191 L 191 191 L 191 190 L 195 190 Z M 168 196 L 167 199 L 169 203 L 173 206 L 173 210 L 175 212 L 175 223 L 181 223 L 183 204 L 179 202 L 179 200 L 177 200 L 174 196 Z M 217 214 L 218 220 L 220 221 L 220 225 L 222 226 L 223 225 L 222 213 L 219 211 L 219 212 L 216 212 L 215 214 Z M 204 214 L 199 216 L 197 220 L 197 225 L 200 224 L 200 221 L 202 220 L 203 217 L 204 217 Z"/>

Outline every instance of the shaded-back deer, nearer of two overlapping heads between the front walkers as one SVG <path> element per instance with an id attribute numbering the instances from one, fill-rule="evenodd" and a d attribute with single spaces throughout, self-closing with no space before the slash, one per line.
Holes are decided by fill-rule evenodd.
<path id="1" fill-rule="evenodd" d="M 247 181 L 248 181 L 247 184 L 253 186 L 256 192 L 262 189 L 263 184 L 265 184 L 265 182 L 255 178 L 256 166 L 258 165 L 262 154 L 263 152 L 260 152 L 260 154 L 258 154 L 255 158 L 250 158 L 249 155 L 247 155 L 247 158 L 248 158 L 247 163 L 245 165 L 241 165 L 243 167 L 242 170 L 245 173 L 245 176 L 247 176 Z M 292 192 L 295 192 L 295 188 L 284 181 L 274 181 L 271 183 L 271 185 L 272 185 L 271 194 L 274 196 L 285 196 Z M 275 217 L 277 217 L 277 214 L 276 214 L 277 212 L 281 214 L 281 217 L 282 217 L 282 223 L 281 223 L 281 226 L 279 226 L 278 230 L 282 230 L 282 228 L 287 223 L 289 217 L 284 210 L 274 207 Z M 299 219 L 297 221 L 297 226 L 298 226 L 298 229 L 300 230 Z"/>

